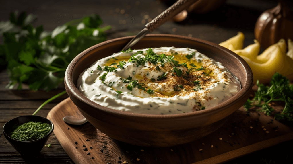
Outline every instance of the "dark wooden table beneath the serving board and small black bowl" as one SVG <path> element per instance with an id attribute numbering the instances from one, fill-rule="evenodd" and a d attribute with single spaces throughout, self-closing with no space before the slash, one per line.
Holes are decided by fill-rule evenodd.
<path id="1" fill-rule="evenodd" d="M 288 2 L 290 6 L 292 3 Z M 227 0 L 226 4 L 207 14 L 190 13 L 182 22 L 167 22 L 153 33 L 176 34 L 197 37 L 220 43 L 242 31 L 246 37 L 244 46 L 253 43 L 254 24 L 265 10 L 275 7 L 275 1 Z M 18 10 L 38 16 L 35 26 L 44 25 L 45 30 L 53 30 L 69 20 L 82 18 L 97 13 L 104 20 L 104 25 L 111 25 L 108 39 L 136 35 L 144 28 L 148 18 L 154 18 L 168 7 L 161 1 L 109 0 L 109 1 L 0 1 L 0 20 L 8 20 L 9 13 Z M 292 8 L 291 8 L 292 9 Z M 146 19 L 145 19 L 146 18 Z M 0 38 L 2 44 L 3 38 Z M 6 70 L 0 71 L 0 127 L 10 119 L 31 115 L 45 100 L 64 90 L 60 86 L 50 92 L 30 91 L 23 85 L 23 90 L 8 90 L 5 86 L 9 78 Z M 64 95 L 42 108 L 37 115 L 46 117 L 52 107 L 67 98 Z M 44 147 L 40 156 L 32 161 L 25 161 L 8 143 L 0 131 L 0 163 L 73 163 L 53 134 L 47 142 L 51 147 Z M 261 160 L 273 160 L 277 163 L 292 161 L 293 140 L 252 153 L 227 163 L 265 163 Z M 290 148 L 289 151 L 285 148 Z M 255 158 L 255 159 L 254 159 Z M 253 160 L 254 159 L 254 160 Z"/>

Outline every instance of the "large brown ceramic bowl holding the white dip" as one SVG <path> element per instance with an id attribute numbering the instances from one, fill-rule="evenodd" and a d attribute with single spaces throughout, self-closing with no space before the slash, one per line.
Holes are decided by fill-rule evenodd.
<path id="1" fill-rule="evenodd" d="M 120 50 L 133 38 L 121 37 L 94 45 L 75 57 L 65 73 L 65 88 L 79 111 L 94 127 L 108 136 L 139 146 L 168 147 L 207 136 L 221 127 L 249 97 L 253 76 L 248 64 L 234 52 L 215 43 L 179 35 L 152 34 L 132 49 L 150 47 L 189 47 L 221 62 L 241 82 L 241 91 L 231 99 L 196 112 L 150 115 L 122 112 L 101 106 L 79 92 L 76 82 L 82 71 L 98 59 Z"/>

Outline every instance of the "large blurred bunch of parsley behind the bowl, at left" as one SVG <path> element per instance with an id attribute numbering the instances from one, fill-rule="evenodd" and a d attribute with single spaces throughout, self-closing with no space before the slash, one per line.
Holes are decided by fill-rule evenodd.
<path id="1" fill-rule="evenodd" d="M 31 90 L 52 90 L 63 82 L 65 70 L 71 60 L 88 47 L 106 40 L 105 30 L 100 28 L 102 19 L 97 14 L 73 20 L 58 26 L 52 32 L 31 24 L 35 16 L 25 12 L 10 20 L 0 22 L 1 69 L 7 69 L 10 78 L 8 88 L 27 83 Z"/>

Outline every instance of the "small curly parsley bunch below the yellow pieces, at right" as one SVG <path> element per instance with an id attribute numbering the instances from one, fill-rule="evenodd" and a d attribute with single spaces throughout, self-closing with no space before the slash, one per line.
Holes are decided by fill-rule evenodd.
<path id="1" fill-rule="evenodd" d="M 275 119 L 293 121 L 293 85 L 286 76 L 278 72 L 272 76 L 270 86 L 256 82 L 258 90 L 253 100 L 247 100 L 244 104 L 246 109 L 260 107 L 259 111 L 271 115 L 274 109 L 269 105 L 271 101 L 283 101 L 285 107 L 281 113 L 275 113 Z"/>

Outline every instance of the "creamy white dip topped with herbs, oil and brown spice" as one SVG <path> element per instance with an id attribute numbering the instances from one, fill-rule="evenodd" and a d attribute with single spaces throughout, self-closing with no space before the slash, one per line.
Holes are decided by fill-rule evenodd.
<path id="1" fill-rule="evenodd" d="M 115 110 L 175 114 L 204 110 L 236 95 L 240 82 L 221 63 L 190 48 L 115 53 L 81 73 L 79 91 Z"/>

